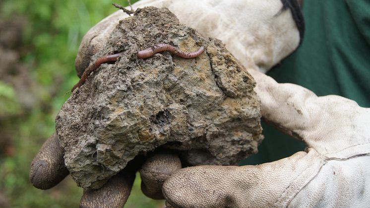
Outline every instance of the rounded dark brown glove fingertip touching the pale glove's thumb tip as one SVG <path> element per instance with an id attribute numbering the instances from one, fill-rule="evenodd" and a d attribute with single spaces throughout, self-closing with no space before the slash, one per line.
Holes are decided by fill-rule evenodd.
<path id="1" fill-rule="evenodd" d="M 163 183 L 181 169 L 179 156 L 171 152 L 156 152 L 140 168 L 141 190 L 152 199 L 164 199 Z"/>

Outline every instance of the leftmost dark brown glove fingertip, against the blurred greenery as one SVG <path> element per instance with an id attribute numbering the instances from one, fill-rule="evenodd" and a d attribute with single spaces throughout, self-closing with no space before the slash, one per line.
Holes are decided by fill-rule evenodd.
<path id="1" fill-rule="evenodd" d="M 54 133 L 42 145 L 40 151 L 32 160 L 30 180 L 38 189 L 50 189 L 61 182 L 69 174 L 64 165 L 63 150 L 59 139 Z"/>

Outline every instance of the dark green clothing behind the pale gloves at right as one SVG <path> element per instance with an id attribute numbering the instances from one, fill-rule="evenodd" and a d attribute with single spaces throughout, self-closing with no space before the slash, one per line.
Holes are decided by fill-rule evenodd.
<path id="1" fill-rule="evenodd" d="M 318 96 L 335 94 L 370 107 L 370 0 L 306 0 L 302 46 L 267 74 Z M 304 144 L 263 124 L 259 153 L 241 164 L 290 156 Z"/>

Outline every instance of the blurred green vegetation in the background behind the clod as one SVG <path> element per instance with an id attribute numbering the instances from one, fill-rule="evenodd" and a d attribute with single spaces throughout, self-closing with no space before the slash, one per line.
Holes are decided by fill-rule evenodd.
<path id="1" fill-rule="evenodd" d="M 31 185 L 28 170 L 43 142 L 55 131 L 55 117 L 78 81 L 74 59 L 79 43 L 93 25 L 117 10 L 112 2 L 0 0 L 1 21 L 15 16 L 24 19 L 20 59 L 37 86 L 32 96 L 39 100 L 27 112 L 19 113 L 22 109 L 14 86 L 0 77 L 0 115 L 18 115 L 0 121 L 0 131 L 11 133 L 12 153 L 0 152 L 0 193 L 10 207 L 78 207 L 82 189 L 69 176 L 57 187 L 42 191 Z M 125 0 L 116 3 L 127 5 Z M 143 196 L 137 177 L 125 207 L 164 205 Z"/>

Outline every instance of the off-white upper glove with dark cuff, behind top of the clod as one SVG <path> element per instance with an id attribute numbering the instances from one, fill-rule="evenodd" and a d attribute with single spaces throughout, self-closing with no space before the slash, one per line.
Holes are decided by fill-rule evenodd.
<path id="1" fill-rule="evenodd" d="M 140 0 L 132 7 L 167 7 L 180 23 L 204 37 L 221 40 L 246 69 L 266 72 L 291 54 L 303 36 L 298 5 L 285 5 L 283 9 L 280 0 Z M 116 25 L 126 17 L 122 10 L 116 11 L 84 36 L 75 63 L 79 76 L 88 67 L 91 56 L 107 43 Z"/>

